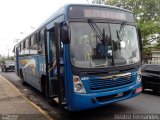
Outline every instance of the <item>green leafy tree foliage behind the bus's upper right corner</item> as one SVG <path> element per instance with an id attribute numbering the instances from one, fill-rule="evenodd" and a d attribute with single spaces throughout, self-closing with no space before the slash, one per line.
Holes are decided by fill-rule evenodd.
<path id="1" fill-rule="evenodd" d="M 153 43 L 156 43 L 154 49 L 160 49 L 160 0 L 106 0 L 106 4 L 134 13 L 145 53 L 151 51 L 149 47 Z"/>

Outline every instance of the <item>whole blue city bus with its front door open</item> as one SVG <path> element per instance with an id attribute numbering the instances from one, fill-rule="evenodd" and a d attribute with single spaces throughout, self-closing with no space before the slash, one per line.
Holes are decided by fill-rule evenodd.
<path id="1" fill-rule="evenodd" d="M 15 45 L 16 73 L 69 111 L 95 108 L 140 94 L 140 47 L 132 12 L 68 4 Z"/>

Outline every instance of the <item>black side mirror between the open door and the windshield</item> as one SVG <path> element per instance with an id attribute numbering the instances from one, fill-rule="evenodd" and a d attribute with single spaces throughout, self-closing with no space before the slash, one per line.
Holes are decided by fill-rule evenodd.
<path id="1" fill-rule="evenodd" d="M 64 44 L 69 44 L 70 43 L 69 30 L 68 30 L 68 26 L 67 25 L 64 25 L 64 26 L 61 27 L 60 35 L 61 35 L 61 41 Z"/>

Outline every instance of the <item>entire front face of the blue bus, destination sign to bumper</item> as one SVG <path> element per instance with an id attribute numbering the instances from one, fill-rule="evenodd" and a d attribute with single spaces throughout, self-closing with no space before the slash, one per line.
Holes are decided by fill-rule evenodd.
<path id="1" fill-rule="evenodd" d="M 133 14 L 96 5 L 69 5 L 67 10 L 67 109 L 90 109 L 139 95 L 140 40 Z"/>

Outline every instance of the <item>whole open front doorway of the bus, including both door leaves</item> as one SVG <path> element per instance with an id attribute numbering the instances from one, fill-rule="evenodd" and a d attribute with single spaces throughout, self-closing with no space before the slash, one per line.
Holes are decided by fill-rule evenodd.
<path id="1" fill-rule="evenodd" d="M 60 27 L 55 24 L 54 28 L 46 32 L 47 55 L 46 71 L 49 82 L 49 96 L 54 97 L 59 105 L 65 104 L 64 88 L 64 64 L 63 45 L 60 41 Z"/>

